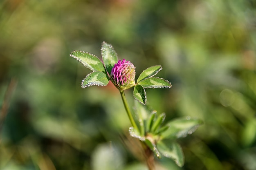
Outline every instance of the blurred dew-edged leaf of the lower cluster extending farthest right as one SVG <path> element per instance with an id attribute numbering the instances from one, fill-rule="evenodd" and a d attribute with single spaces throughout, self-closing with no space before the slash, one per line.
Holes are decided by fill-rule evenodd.
<path id="1" fill-rule="evenodd" d="M 169 121 L 166 126 L 169 128 L 161 133 L 161 139 L 175 139 L 191 135 L 195 130 L 203 124 L 200 119 L 190 119 L 190 117 L 179 118 Z"/>

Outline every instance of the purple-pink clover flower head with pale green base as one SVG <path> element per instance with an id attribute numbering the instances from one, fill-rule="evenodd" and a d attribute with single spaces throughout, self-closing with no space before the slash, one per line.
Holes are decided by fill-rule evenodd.
<path id="1" fill-rule="evenodd" d="M 118 60 L 112 68 L 110 77 L 112 82 L 120 89 L 127 89 L 135 85 L 135 66 L 130 62 Z"/>

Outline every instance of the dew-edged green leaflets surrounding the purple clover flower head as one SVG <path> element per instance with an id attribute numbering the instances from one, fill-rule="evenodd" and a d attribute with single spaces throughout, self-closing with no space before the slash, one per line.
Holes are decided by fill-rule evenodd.
<path id="1" fill-rule="evenodd" d="M 147 101 L 145 88 L 171 88 L 171 83 L 167 80 L 154 77 L 159 71 L 162 70 L 162 66 L 160 65 L 152 66 L 144 70 L 139 75 L 136 83 L 135 81 L 131 81 L 133 82 L 132 84 L 124 84 L 123 86 L 119 85 L 119 82 L 111 77 L 111 71 L 114 66 L 116 66 L 115 64 L 121 60 L 118 61 L 115 49 L 111 44 L 107 44 L 106 42 L 103 42 L 101 47 L 101 56 L 103 62 L 101 62 L 97 56 L 83 51 L 73 51 L 70 56 L 93 71 L 83 79 L 81 83 L 82 88 L 93 85 L 106 86 L 108 85 L 109 80 L 111 80 L 113 84 L 115 84 L 115 86 L 117 86 L 117 88 L 120 90 L 134 87 L 133 96 L 137 101 L 144 105 Z M 129 71 L 129 68 L 124 68 L 122 73 L 129 74 Z M 133 77 L 135 77 L 135 75 Z"/>

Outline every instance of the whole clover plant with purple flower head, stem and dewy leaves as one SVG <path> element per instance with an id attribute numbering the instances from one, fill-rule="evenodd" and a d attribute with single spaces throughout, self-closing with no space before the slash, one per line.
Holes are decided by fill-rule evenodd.
<path id="1" fill-rule="evenodd" d="M 183 166 L 182 148 L 176 139 L 186 137 L 186 135 L 194 132 L 202 124 L 202 121 L 186 117 L 174 119 L 164 124 L 164 113 L 157 115 L 155 110 L 143 106 L 146 105 L 147 101 L 145 88 L 171 88 L 171 83 L 167 80 L 154 77 L 162 70 L 162 66 L 156 65 L 146 68 L 135 82 L 135 66 L 125 59 L 118 60 L 114 48 L 106 42 L 103 42 L 101 47 L 103 62 L 97 56 L 83 51 L 73 51 L 70 56 L 92 70 L 92 73 L 83 79 L 82 88 L 94 85 L 106 86 L 109 81 L 117 87 L 132 124 L 129 128 L 130 136 L 141 141 L 145 149 L 149 170 L 154 170 L 152 159 L 149 159 L 152 154 L 159 159 L 161 157 L 173 159 L 178 166 Z M 131 113 L 124 94 L 124 90 L 132 87 L 134 88 L 133 96 L 140 103 L 135 103 L 134 114 Z M 148 150 L 150 150 L 149 156 Z"/>

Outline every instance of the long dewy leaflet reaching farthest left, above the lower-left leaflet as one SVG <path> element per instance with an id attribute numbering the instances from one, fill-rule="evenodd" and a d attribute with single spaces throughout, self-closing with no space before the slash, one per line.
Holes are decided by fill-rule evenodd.
<path id="1" fill-rule="evenodd" d="M 70 57 L 81 62 L 85 67 L 89 68 L 92 71 L 102 71 L 106 73 L 105 67 L 101 60 L 93 54 L 84 52 L 84 51 L 73 51 L 70 54 Z"/>

